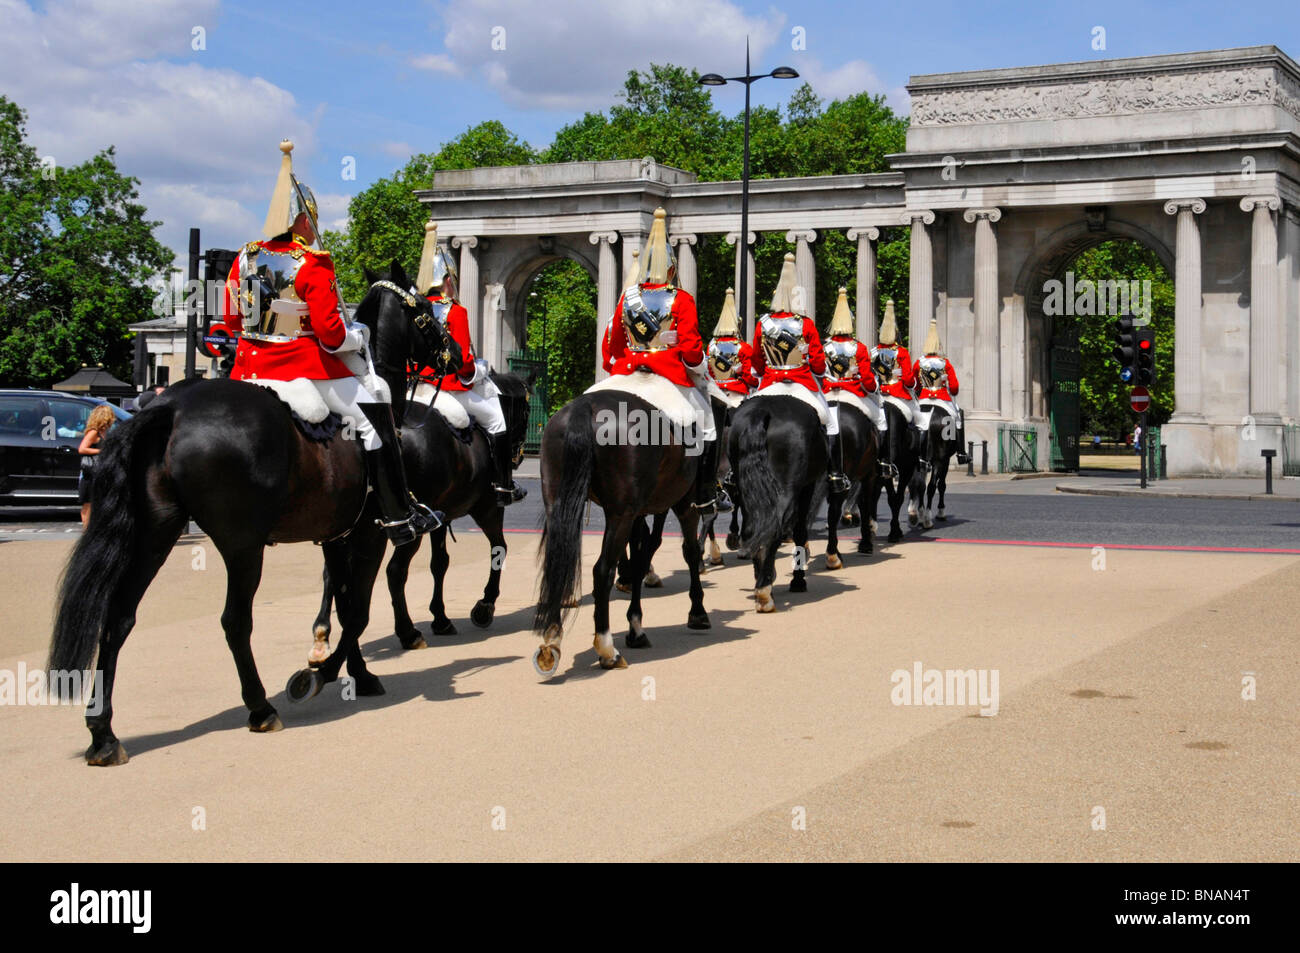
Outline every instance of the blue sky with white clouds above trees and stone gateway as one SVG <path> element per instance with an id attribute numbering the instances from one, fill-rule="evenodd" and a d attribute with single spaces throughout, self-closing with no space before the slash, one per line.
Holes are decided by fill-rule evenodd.
<path id="1" fill-rule="evenodd" d="M 826 99 L 868 90 L 904 113 L 919 73 L 1268 43 L 1300 56 L 1282 3 L 0 0 L 0 92 L 58 164 L 116 144 L 181 251 L 191 225 L 211 246 L 256 237 L 285 135 L 338 225 L 412 151 L 489 118 L 545 146 L 608 107 L 628 69 L 740 72 L 746 33 L 755 68 L 790 65 Z M 796 86 L 758 83 L 755 100 Z M 714 96 L 741 108 L 736 87 Z"/>

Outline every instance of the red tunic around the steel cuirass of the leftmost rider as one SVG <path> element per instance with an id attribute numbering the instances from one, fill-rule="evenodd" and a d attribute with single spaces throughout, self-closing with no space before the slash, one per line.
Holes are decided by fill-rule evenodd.
<path id="1" fill-rule="evenodd" d="M 243 337 L 243 319 L 235 307 L 235 300 L 231 299 L 231 293 L 239 294 L 239 263 L 244 256 L 238 256 L 230 265 L 221 311 L 226 330 L 239 335 L 230 378 L 292 381 L 306 377 L 309 381 L 333 381 L 352 377 L 347 364 L 325 350 L 343 343 L 347 333 L 339 316 L 338 282 L 334 280 L 334 263 L 330 261 L 329 254 L 315 251 L 299 242 L 254 242 L 254 244 L 266 251 L 302 252 L 303 261 L 294 276 L 294 291 L 307 304 L 312 334 L 292 341 L 250 341 Z"/>

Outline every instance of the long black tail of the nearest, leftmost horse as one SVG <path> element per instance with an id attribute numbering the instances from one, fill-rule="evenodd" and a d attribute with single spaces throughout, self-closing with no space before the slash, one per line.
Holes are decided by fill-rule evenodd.
<path id="1" fill-rule="evenodd" d="M 139 532 L 136 494 L 144 469 L 161 459 L 172 434 L 174 404 L 140 411 L 109 430 L 95 460 L 91 517 L 58 584 L 58 611 L 49 642 L 51 671 L 90 668 L 113 621 Z M 152 451 L 152 452 L 150 452 Z"/>

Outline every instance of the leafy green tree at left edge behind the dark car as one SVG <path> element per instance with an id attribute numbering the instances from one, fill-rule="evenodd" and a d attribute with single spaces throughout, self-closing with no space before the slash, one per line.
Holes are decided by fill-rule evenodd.
<path id="1" fill-rule="evenodd" d="M 172 252 L 109 147 L 42 165 L 26 113 L 0 96 L 0 385 L 49 385 L 82 364 L 130 376 L 127 325 L 150 319 Z"/>

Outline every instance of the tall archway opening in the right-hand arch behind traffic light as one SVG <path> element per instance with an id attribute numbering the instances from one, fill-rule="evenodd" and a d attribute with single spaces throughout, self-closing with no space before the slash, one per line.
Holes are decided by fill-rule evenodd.
<path id="1" fill-rule="evenodd" d="M 1174 282 L 1160 256 L 1132 238 L 1102 238 L 1070 256 L 1043 289 L 1052 469 L 1136 471 L 1135 382 L 1114 359 L 1115 320 L 1156 332 L 1148 429 L 1174 411 Z"/>

